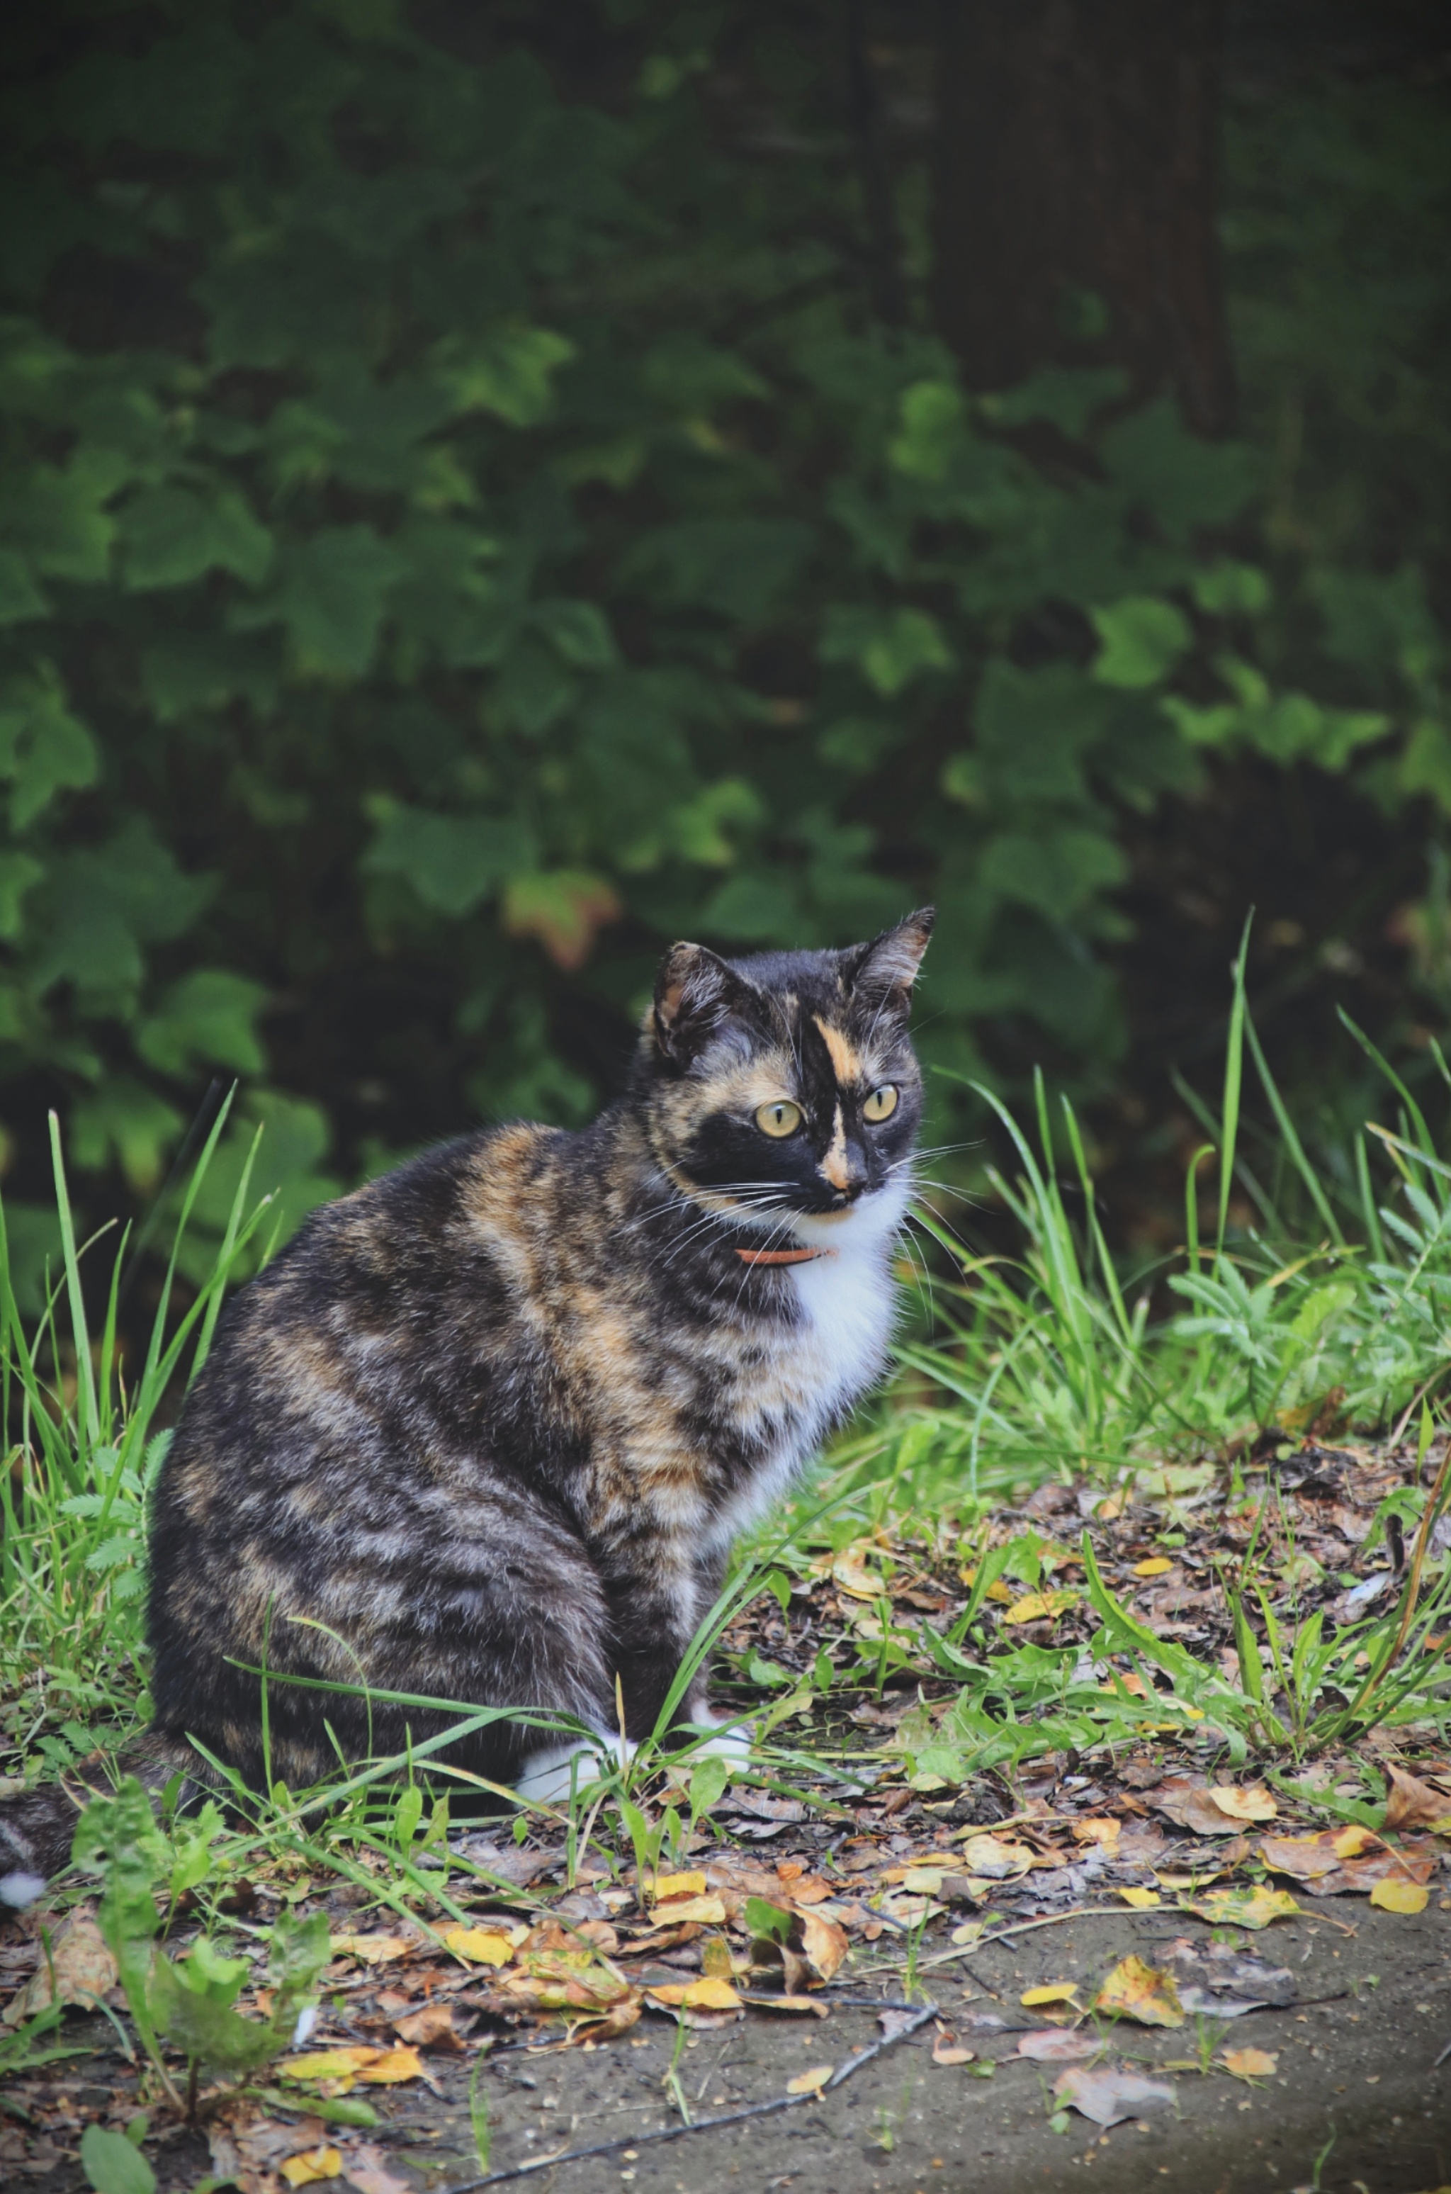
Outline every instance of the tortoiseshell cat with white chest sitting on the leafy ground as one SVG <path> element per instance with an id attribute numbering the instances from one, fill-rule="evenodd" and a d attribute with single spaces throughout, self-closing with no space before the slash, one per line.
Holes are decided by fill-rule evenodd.
<path id="1" fill-rule="evenodd" d="M 263 1755 L 263 1661 L 601 1746 L 621 1707 L 630 1744 L 654 1729 L 733 1540 L 882 1371 L 931 924 L 678 943 L 590 1128 L 487 1130 L 312 1213 L 228 1305 L 160 1472 L 154 1760 L 198 1738 L 296 1790 L 454 1718 L 270 1683 Z M 707 1718 L 696 1678 L 676 1722 Z M 448 1757 L 569 1788 L 540 1727 Z"/>

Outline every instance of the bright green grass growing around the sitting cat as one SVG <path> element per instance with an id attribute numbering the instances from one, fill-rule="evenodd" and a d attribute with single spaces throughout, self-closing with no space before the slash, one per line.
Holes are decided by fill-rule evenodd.
<path id="1" fill-rule="evenodd" d="M 999 1580 L 1023 1593 L 1051 1591 L 1060 1547 L 1032 1529 L 1005 1545 L 990 1538 L 994 1512 L 1045 1479 L 1087 1479 L 1104 1494 L 1126 1485 L 1148 1492 L 1172 1534 L 1207 1488 L 1223 1485 L 1225 1470 L 1229 1490 L 1242 1490 L 1256 1450 L 1295 1441 L 1324 1413 L 1359 1435 L 1411 1426 L 1425 1457 L 1436 1395 L 1451 1369 L 1451 1165 L 1405 1084 L 1372 1058 L 1385 1077 L 1392 1126 L 1368 1121 L 1339 1167 L 1315 1172 L 1245 1009 L 1240 959 L 1221 1108 L 1203 1108 L 1205 1150 L 1218 1163 L 1214 1240 L 1199 1240 L 1196 1158 L 1181 1253 L 1133 1279 L 1109 1255 L 1071 1106 L 1054 1108 L 1038 1084 L 1030 1132 L 983 1093 L 1016 1161 L 994 1183 L 1019 1226 L 1019 1253 L 972 1257 L 940 1218 L 922 1215 L 946 1277 L 935 1286 L 933 1330 L 900 1349 L 893 1393 L 865 1430 L 828 1457 L 810 1494 L 744 1549 L 656 1738 L 623 1768 L 610 1766 L 601 1782 L 580 1788 L 569 1806 L 520 1808 L 511 1821 L 503 1817 L 498 1832 L 520 1841 L 533 1830 L 562 1832 L 571 1876 L 586 1847 L 639 1880 L 678 1863 L 727 1775 L 738 1773 L 665 1735 L 691 1667 L 718 1650 L 753 1602 L 766 1606 L 775 1595 L 790 1606 L 795 1584 L 858 1542 L 867 1556 L 871 1547 L 915 1549 L 940 1569 L 975 1567 L 966 1608 L 940 1630 L 900 1615 L 882 1591 L 869 1617 L 819 1639 L 803 1670 L 773 1665 L 760 1648 L 722 1663 L 742 1709 L 755 1716 L 755 1777 L 828 1810 L 882 1766 L 922 1790 L 951 1790 L 983 1768 L 1012 1775 L 1045 1751 L 1089 1753 L 1146 1731 L 1179 1733 L 1188 1746 L 1229 1760 L 1253 1757 L 1262 1773 L 1286 1777 L 1317 1755 L 1346 1757 L 1374 1724 L 1444 1729 L 1451 1705 L 1442 1698 L 1449 1685 L 1436 1632 L 1451 1628 L 1451 1577 L 1447 1558 L 1429 1551 L 1447 1496 L 1444 1470 L 1429 1492 L 1405 1485 L 1385 1503 L 1411 1547 L 1396 1604 L 1332 1635 L 1317 1613 L 1302 1619 L 1293 1595 L 1289 1604 L 1273 1599 L 1251 1540 L 1242 1560 L 1221 1573 L 1238 1646 L 1229 1672 L 1137 1621 L 1087 1538 L 1076 1553 L 1080 1599 L 1095 1626 L 1087 1650 L 1082 1641 L 1012 1643 L 983 1621 L 986 1595 Z M 1273 1121 L 1253 1169 L 1240 1147 L 1247 1062 Z M 1447 1073 L 1440 1053 L 1436 1062 Z M 178 1246 L 224 1119 L 198 1163 Z M 1236 1180 L 1258 1218 L 1231 1231 Z M 0 1714 L 9 1766 L 31 1782 L 97 1742 L 114 1749 L 147 1718 L 145 1509 L 165 1457 L 162 1426 L 206 1358 L 233 1268 L 255 1264 L 252 1244 L 268 1224 L 266 1198 L 248 1209 L 244 1176 L 200 1290 L 176 1308 L 173 1248 L 145 1358 L 127 1365 L 116 1338 L 125 1242 L 112 1255 L 105 1240 L 75 1240 L 59 1136 L 55 1191 L 64 1264 L 35 1330 L 15 1308 L 0 1233 L 0 1395 L 15 1439 L 0 1479 Z M 108 1255 L 97 1336 L 81 1259 Z M 1106 1683 L 1104 1665 L 1113 1672 Z M 880 1698 L 902 1676 L 924 1683 L 935 1711 L 909 1716 L 882 1760 L 847 1731 L 839 1709 Z M 268 1676 L 268 1685 L 281 1681 Z M 209 1933 L 237 1924 L 226 1920 L 228 1893 L 259 1871 L 283 1885 L 342 1876 L 382 1909 L 432 1926 L 465 1922 L 492 1878 L 450 1852 L 450 1803 L 457 1812 L 479 1790 L 437 1753 L 494 1709 L 400 1703 L 428 1716 L 443 1711 L 448 1727 L 397 1757 L 340 1768 L 316 1790 L 270 1784 L 248 1792 L 233 1779 L 226 1812 L 211 1806 L 195 1819 L 162 1814 L 154 1832 L 136 1803 L 123 1808 L 125 1834 L 116 1828 L 121 1812 L 108 1817 L 105 1834 L 105 1823 L 88 1814 L 92 1865 L 105 1869 L 112 1907 L 116 1869 L 130 1852 L 127 1865 L 145 1876 L 143 1902 L 160 1893 L 173 1909 L 187 1896 Z M 1368 1775 L 1365 1803 L 1341 1801 L 1341 1812 L 1350 1806 L 1374 1819 L 1379 1797 Z M 121 1942 L 119 1920 L 116 1929 Z M 299 1957 L 301 1972 L 307 1957 Z M 149 1935 L 136 1959 L 134 2012 L 147 2049 L 147 2018 L 162 2014 L 176 2034 L 202 2036 L 198 2062 L 215 2049 L 215 2062 L 239 2067 L 248 2049 L 261 2049 L 257 2036 L 239 2040 L 228 2027 L 235 1975 L 204 1961 L 191 1981 L 200 1986 L 211 1972 L 211 2010 L 198 2010 L 191 1981 L 158 1981 Z M 160 2010 L 149 1994 L 158 1986 Z M 33 2023 L 7 2047 L 44 2051 L 53 2025 Z M 162 2058 L 154 2060 L 160 2078 Z"/>

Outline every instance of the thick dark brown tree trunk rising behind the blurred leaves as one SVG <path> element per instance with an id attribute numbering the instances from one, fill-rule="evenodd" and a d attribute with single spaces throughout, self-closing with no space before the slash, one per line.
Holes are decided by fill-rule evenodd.
<path id="1" fill-rule="evenodd" d="M 1229 428 L 1221 37 L 1223 0 L 942 0 L 935 309 L 970 386 L 1117 364 Z"/>

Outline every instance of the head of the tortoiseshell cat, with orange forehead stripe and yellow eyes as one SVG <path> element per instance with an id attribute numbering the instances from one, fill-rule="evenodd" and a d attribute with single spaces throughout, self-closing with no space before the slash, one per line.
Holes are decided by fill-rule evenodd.
<path id="1" fill-rule="evenodd" d="M 639 1090 L 678 1189 L 781 1240 L 896 1224 L 922 1117 L 907 1020 L 931 930 L 920 908 L 839 952 L 672 946 Z"/>

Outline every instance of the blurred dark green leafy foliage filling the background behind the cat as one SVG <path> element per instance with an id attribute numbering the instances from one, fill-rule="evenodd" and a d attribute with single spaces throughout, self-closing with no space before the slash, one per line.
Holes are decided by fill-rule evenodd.
<path id="1" fill-rule="evenodd" d="M 832 11 L 817 50 L 599 0 L 588 97 L 544 13 L 11 42 L 0 1104 L 145 1200 L 241 1075 L 217 1231 L 257 1121 L 292 1224 L 468 1119 L 588 1117 L 676 935 L 933 897 L 926 1053 L 1021 1020 L 1102 1071 L 1126 812 L 1236 748 L 1451 810 L 1436 97 L 1236 108 L 1205 445 L 1113 373 L 966 391 L 920 296 L 874 323 Z"/>

